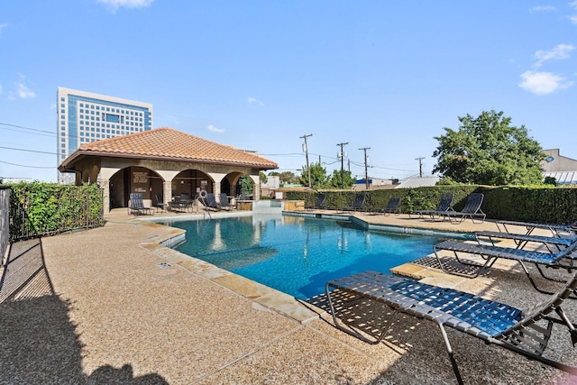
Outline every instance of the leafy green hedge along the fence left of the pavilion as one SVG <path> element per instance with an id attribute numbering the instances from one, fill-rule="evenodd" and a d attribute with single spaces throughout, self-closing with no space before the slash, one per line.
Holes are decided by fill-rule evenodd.
<path id="1" fill-rule="evenodd" d="M 10 239 L 57 234 L 104 225 L 102 189 L 96 185 L 7 184 Z"/>

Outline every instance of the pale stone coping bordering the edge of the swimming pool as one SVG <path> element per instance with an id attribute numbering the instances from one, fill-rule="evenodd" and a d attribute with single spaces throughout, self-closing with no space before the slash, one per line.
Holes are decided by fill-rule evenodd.
<path id="1" fill-rule="evenodd" d="M 311 218 L 322 218 L 327 220 L 346 220 L 350 221 L 355 225 L 359 225 L 365 230 L 370 231 L 382 231 L 397 234 L 444 234 L 451 237 L 467 237 L 470 233 L 464 232 L 449 232 L 443 230 L 434 229 L 419 229 L 414 227 L 398 226 L 398 225 L 378 225 L 370 224 L 367 221 L 363 221 L 361 218 L 355 217 L 354 215 L 340 215 L 340 214 L 319 214 L 319 213 L 306 213 L 306 212 L 294 212 L 294 211 L 283 211 L 282 215 L 288 216 L 304 216 Z M 231 212 L 231 213 L 215 213 L 213 219 L 224 218 L 224 217 L 236 217 L 236 216 L 252 216 L 254 213 L 252 211 L 246 212 Z M 262 215 L 262 214 L 258 214 Z M 267 215 L 267 214 L 264 214 Z M 278 214 L 274 214 L 278 215 Z M 255 304 L 261 307 L 265 307 L 271 311 L 275 311 L 283 316 L 288 316 L 301 324 L 307 324 L 321 316 L 326 314 L 325 310 L 316 307 L 306 300 L 295 298 L 285 292 L 277 289 L 272 289 L 269 286 L 263 285 L 255 280 L 250 280 L 241 275 L 235 274 L 234 272 L 221 269 L 212 263 L 191 257 L 182 252 L 178 252 L 173 249 L 179 243 L 186 240 L 186 230 L 182 230 L 176 227 L 171 227 L 169 225 L 164 225 L 159 222 L 162 221 L 188 221 L 188 220 L 208 220 L 204 214 L 191 214 L 191 215 L 179 215 L 175 216 L 157 216 L 154 218 L 139 218 L 137 222 L 142 225 L 151 226 L 166 226 L 170 227 L 171 231 L 165 237 L 160 239 L 155 239 L 151 242 L 144 242 L 140 245 L 147 249 L 148 251 L 154 253 L 165 261 L 169 263 L 178 265 L 179 267 L 188 270 L 197 276 L 204 278 L 205 280 L 210 280 L 216 285 L 219 285 L 225 289 L 233 291 L 235 294 L 252 300 Z M 422 275 L 416 275 L 414 264 L 411 262 L 399 265 L 397 267 L 391 268 L 389 272 L 391 274 L 401 274 L 404 276 L 412 277 L 415 279 L 424 278 Z M 421 273 L 430 270 L 431 268 L 419 269 Z M 407 274 L 408 270 L 413 272 L 413 274 Z M 437 275 L 438 272 L 433 271 L 433 274 Z M 426 278 L 426 277 L 425 277 Z"/>

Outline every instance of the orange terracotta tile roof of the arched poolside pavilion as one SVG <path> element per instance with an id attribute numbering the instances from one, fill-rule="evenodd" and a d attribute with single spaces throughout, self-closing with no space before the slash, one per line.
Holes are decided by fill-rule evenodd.
<path id="1" fill-rule="evenodd" d="M 77 152 L 78 155 L 85 156 L 197 161 L 250 166 L 263 170 L 278 168 L 277 163 L 259 155 L 206 141 L 168 127 L 86 143 L 81 145 Z"/>

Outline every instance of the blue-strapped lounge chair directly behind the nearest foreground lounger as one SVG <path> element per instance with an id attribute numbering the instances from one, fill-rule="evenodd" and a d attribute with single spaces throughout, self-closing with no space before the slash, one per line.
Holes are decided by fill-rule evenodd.
<path id="1" fill-rule="evenodd" d="M 460 241 L 444 241 L 442 243 L 435 244 L 433 247 L 436 261 L 438 261 L 441 270 L 449 274 L 454 274 L 466 278 L 478 277 L 482 272 L 489 270 L 495 261 L 497 261 L 499 258 L 504 260 L 517 261 L 525 271 L 525 274 L 531 282 L 531 285 L 533 285 L 537 291 L 545 294 L 551 293 L 537 288 L 535 281 L 529 274 L 526 263 L 535 264 L 536 269 L 539 271 L 541 276 L 545 278 L 545 280 L 558 281 L 557 279 L 545 276 L 542 267 L 545 266 L 551 268 L 563 268 L 569 271 L 576 270 L 577 266 L 574 265 L 574 261 L 577 256 L 573 255 L 575 249 L 577 249 L 577 242 L 570 243 L 560 252 L 535 252 L 529 250 L 514 249 L 511 247 L 500 247 L 490 244 L 467 243 Z M 461 272 L 458 270 L 450 269 L 445 265 L 444 261 L 439 256 L 439 252 L 441 251 L 453 252 L 455 259 L 459 263 L 472 267 L 473 270 L 471 272 Z M 463 260 L 463 255 L 459 257 L 460 253 L 466 254 L 469 257 L 481 257 L 485 262 L 478 263 L 473 261 L 465 261 Z"/>

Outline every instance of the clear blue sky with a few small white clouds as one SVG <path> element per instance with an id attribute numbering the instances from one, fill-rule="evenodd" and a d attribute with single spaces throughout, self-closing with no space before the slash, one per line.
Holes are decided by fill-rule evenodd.
<path id="1" fill-rule="evenodd" d="M 425 174 L 444 127 L 503 111 L 577 159 L 577 1 L 0 2 L 0 177 L 56 180 L 58 87 L 154 127 L 364 177 Z"/>

